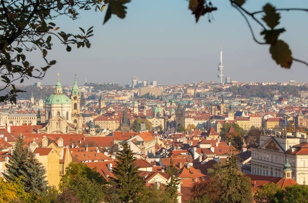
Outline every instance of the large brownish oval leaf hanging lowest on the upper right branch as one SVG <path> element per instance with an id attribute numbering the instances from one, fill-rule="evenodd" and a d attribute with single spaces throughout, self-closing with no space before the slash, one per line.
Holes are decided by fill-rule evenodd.
<path id="1" fill-rule="evenodd" d="M 276 44 L 269 48 L 269 52 L 272 54 L 272 58 L 282 68 L 291 68 L 293 57 L 292 51 L 288 45 L 282 40 L 277 40 Z"/>

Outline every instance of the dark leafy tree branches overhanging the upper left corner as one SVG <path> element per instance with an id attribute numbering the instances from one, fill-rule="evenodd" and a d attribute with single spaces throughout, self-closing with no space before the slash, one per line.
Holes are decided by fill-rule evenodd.
<path id="1" fill-rule="evenodd" d="M 110 0 L 109 0 L 110 1 Z M 78 10 L 94 8 L 103 11 L 107 0 L 15 0 L 1 1 L 0 7 L 0 72 L 1 80 L 11 86 L 0 101 L 9 100 L 16 103 L 17 89 L 14 82 L 24 82 L 24 78 L 42 79 L 46 71 L 56 64 L 56 60 L 48 60 L 48 51 L 52 49 L 54 40 L 59 40 L 71 51 L 71 46 L 90 48 L 89 37 L 93 36 L 93 27 L 80 28 L 81 34 L 66 33 L 54 23 L 58 16 L 65 15 L 74 20 L 79 17 Z M 38 68 L 27 60 L 34 50 L 40 50 L 45 65 Z"/>

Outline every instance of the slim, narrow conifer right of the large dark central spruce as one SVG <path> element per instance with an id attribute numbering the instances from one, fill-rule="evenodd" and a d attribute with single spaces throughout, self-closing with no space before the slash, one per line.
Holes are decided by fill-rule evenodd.
<path id="1" fill-rule="evenodd" d="M 178 169 L 174 165 L 174 160 L 171 158 L 170 165 L 168 166 L 166 173 L 171 176 L 170 182 L 167 184 L 166 191 L 169 193 L 170 197 L 176 201 L 177 200 L 177 191 L 178 185 L 180 184 L 179 178 L 176 176 L 178 174 Z"/>

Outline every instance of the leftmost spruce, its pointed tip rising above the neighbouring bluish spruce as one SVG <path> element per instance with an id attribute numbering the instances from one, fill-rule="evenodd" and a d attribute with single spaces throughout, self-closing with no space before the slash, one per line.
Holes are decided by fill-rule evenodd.
<path id="1" fill-rule="evenodd" d="M 24 147 L 24 139 L 18 136 L 12 156 L 7 164 L 7 174 L 4 177 L 7 181 L 15 181 L 16 178 L 23 175 L 22 171 L 25 170 L 25 160 L 27 158 L 27 149 Z"/>

